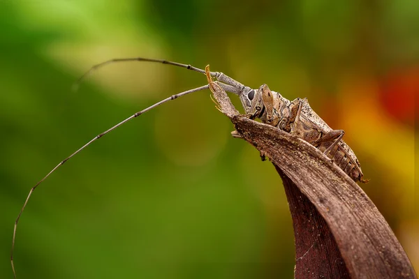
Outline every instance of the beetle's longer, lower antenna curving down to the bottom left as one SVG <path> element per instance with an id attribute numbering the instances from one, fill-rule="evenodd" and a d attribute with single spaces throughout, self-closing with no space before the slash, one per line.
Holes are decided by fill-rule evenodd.
<path id="1" fill-rule="evenodd" d="M 51 171 L 48 172 L 48 174 L 45 175 L 43 177 L 43 179 L 41 179 L 38 183 L 36 183 L 36 185 L 34 187 L 32 187 L 31 190 L 29 191 L 29 194 L 27 196 L 27 199 L 24 201 L 24 204 L 22 206 L 22 209 L 20 209 L 20 213 L 19 213 L 19 215 L 17 215 L 17 218 L 15 220 L 15 227 L 13 229 L 12 251 L 10 252 L 10 262 L 12 264 L 14 278 L 16 278 L 16 271 L 15 271 L 15 264 L 13 264 L 13 251 L 15 250 L 15 240 L 16 240 L 17 223 L 19 223 L 20 216 L 22 215 L 22 212 L 24 211 L 25 207 L 27 206 L 27 203 L 29 201 L 29 198 L 31 197 L 32 193 L 34 193 L 34 190 L 36 189 L 36 187 L 39 186 L 39 184 L 43 183 L 43 181 L 45 179 L 47 179 L 47 177 L 50 176 L 50 174 L 52 174 L 52 172 L 55 172 L 55 170 L 58 169 L 59 167 L 61 167 L 61 165 L 64 165 L 64 163 L 66 163 L 70 158 L 72 158 L 73 156 L 75 156 L 75 154 L 79 153 L 80 151 L 82 151 L 83 149 L 85 149 L 87 146 L 89 146 L 92 142 L 94 142 L 94 141 L 98 140 L 99 138 L 103 137 L 104 135 L 108 134 L 110 131 L 115 130 L 119 126 L 122 126 L 124 123 L 130 121 L 131 119 L 134 119 L 135 117 L 138 117 L 141 114 L 143 114 L 145 112 L 148 112 L 149 110 L 154 109 L 154 107 L 157 107 L 157 106 L 159 106 L 159 105 L 161 105 L 163 103 L 168 102 L 169 100 L 175 100 L 176 98 L 185 96 L 186 94 L 197 92 L 197 91 L 202 91 L 202 90 L 209 89 L 209 88 L 210 88 L 209 87 L 209 84 L 207 84 L 207 85 L 204 85 L 204 86 L 197 87 L 195 89 L 190 89 L 188 91 L 184 91 L 182 93 L 177 93 L 177 94 L 172 95 L 172 96 L 170 96 L 170 97 L 168 97 L 166 99 L 161 100 L 158 103 L 155 103 L 154 105 L 151 105 L 151 106 L 147 107 L 144 110 L 141 110 L 140 112 L 135 112 L 135 114 L 133 114 L 133 115 L 129 116 L 128 118 L 124 119 L 123 121 L 117 123 L 115 126 L 112 126 L 112 128 L 109 128 L 108 130 L 105 130 L 105 132 L 100 133 L 99 135 L 96 135 L 96 137 L 94 137 L 89 142 L 87 142 L 87 144 L 84 144 L 82 147 L 80 147 L 80 149 L 78 149 L 77 151 L 75 151 L 74 153 L 72 153 L 70 156 L 68 156 L 67 158 L 65 158 L 64 160 L 62 160 L 58 165 L 56 165 L 53 169 L 51 169 Z"/>

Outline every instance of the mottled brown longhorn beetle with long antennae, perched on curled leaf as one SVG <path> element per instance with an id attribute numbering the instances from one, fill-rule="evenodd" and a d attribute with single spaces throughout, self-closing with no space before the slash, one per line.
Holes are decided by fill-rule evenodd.
<path id="1" fill-rule="evenodd" d="M 111 59 L 105 61 L 103 63 L 98 63 L 92 66 L 84 75 L 82 75 L 77 82 L 74 84 L 74 89 L 78 89 L 80 83 L 88 76 L 90 73 L 97 68 L 101 68 L 102 66 L 108 65 L 110 63 L 117 63 L 117 62 L 127 62 L 127 61 L 146 61 L 152 63 L 163 63 L 172 66 L 177 66 L 181 68 L 186 68 L 188 70 L 193 70 L 194 72 L 198 72 L 201 74 L 206 74 L 205 70 L 200 68 L 193 67 L 191 65 L 186 65 L 182 63 L 176 63 L 172 61 L 166 61 L 161 59 L 147 59 L 141 57 L 135 58 L 122 58 L 122 59 Z M 249 119 L 260 119 L 263 123 L 270 124 L 274 127 L 279 128 L 280 130 L 284 130 L 288 133 L 292 133 L 297 135 L 297 137 L 301 137 L 303 140 L 306 140 L 316 148 L 320 149 L 324 152 L 326 156 L 330 159 L 334 160 L 334 162 L 341 167 L 341 169 L 348 174 L 355 182 L 367 182 L 362 179 L 362 170 L 360 168 L 360 163 L 353 153 L 352 149 L 346 144 L 342 137 L 344 136 L 344 130 L 333 130 L 328 126 L 323 119 L 320 118 L 314 112 L 307 99 L 300 99 L 296 98 L 295 100 L 291 101 L 281 94 L 271 91 L 266 84 L 263 84 L 259 87 L 259 89 L 251 89 L 249 86 L 245 86 L 233 78 L 228 77 L 228 75 L 224 75 L 223 73 L 219 72 L 209 72 L 210 77 L 213 77 L 216 80 L 216 84 L 218 84 L 222 90 L 228 91 L 230 93 L 234 93 L 239 96 L 242 106 L 244 108 L 244 112 L 249 117 Z M 210 80 L 208 80 L 210 82 Z M 182 93 L 177 93 L 172 95 L 166 99 L 151 105 L 140 112 L 136 112 L 135 114 L 129 116 L 127 119 L 117 123 L 112 128 L 105 130 L 103 133 L 97 135 L 93 139 L 91 139 L 87 144 L 84 144 L 80 147 L 80 149 L 76 150 L 70 156 L 62 160 L 58 165 L 56 165 L 50 172 L 48 172 L 41 181 L 38 181 L 34 187 L 31 188 L 29 194 L 27 195 L 27 199 L 25 200 L 22 209 L 20 209 L 20 213 L 17 215 L 15 220 L 15 226 L 13 229 L 13 240 L 12 240 L 12 250 L 10 253 L 10 262 L 13 269 L 13 276 L 16 278 L 16 271 L 15 266 L 13 263 L 13 251 L 15 248 L 15 240 L 16 240 L 16 229 L 17 224 L 19 223 L 20 216 L 24 211 L 29 198 L 31 197 L 34 190 L 41 184 L 45 179 L 47 179 L 52 172 L 55 172 L 56 169 L 64 165 L 67 160 L 75 156 L 75 154 L 82 151 L 84 148 L 89 146 L 92 142 L 98 140 L 99 138 L 103 137 L 104 135 L 108 134 L 110 131 L 115 130 L 122 124 L 134 119 L 141 114 L 152 110 L 154 107 L 157 107 L 163 103 L 168 102 L 169 100 L 175 100 L 176 98 L 182 97 L 186 94 L 202 91 L 205 89 L 209 89 L 209 84 L 197 87 L 195 89 L 190 89 L 184 91 Z M 240 137 L 234 131 L 232 132 L 233 137 Z"/>

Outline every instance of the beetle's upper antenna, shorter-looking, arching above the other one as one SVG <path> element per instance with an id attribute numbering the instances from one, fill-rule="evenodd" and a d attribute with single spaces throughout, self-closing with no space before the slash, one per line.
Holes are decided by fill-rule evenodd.
<path id="1" fill-rule="evenodd" d="M 150 59 L 150 58 L 143 58 L 143 57 L 128 57 L 128 58 L 115 58 L 115 59 L 110 59 L 108 61 L 104 61 L 101 63 L 98 63 L 94 66 L 91 66 L 91 68 L 89 68 L 89 70 L 87 70 L 86 73 L 84 73 L 81 77 L 79 77 L 78 80 L 76 80 L 73 84 L 73 91 L 77 91 L 80 83 L 82 83 L 83 80 L 85 80 L 90 74 L 91 72 L 93 72 L 94 70 L 97 70 L 98 68 L 101 68 L 103 66 L 106 66 L 108 64 L 112 64 L 112 63 L 118 63 L 118 62 L 138 62 L 138 61 L 143 61 L 143 62 L 153 62 L 153 63 L 162 63 L 162 64 L 168 64 L 168 65 L 172 65 L 172 66 L 177 66 L 177 67 L 181 67 L 181 68 L 186 68 L 188 70 L 193 70 L 194 72 L 198 72 L 201 74 L 205 75 L 205 70 L 202 70 L 200 68 L 196 68 L 193 67 L 191 65 L 188 64 L 182 64 L 182 63 L 177 63 L 177 62 L 172 62 L 172 61 L 167 61 L 164 59 Z M 212 77 L 216 77 L 215 72 L 211 73 Z"/>

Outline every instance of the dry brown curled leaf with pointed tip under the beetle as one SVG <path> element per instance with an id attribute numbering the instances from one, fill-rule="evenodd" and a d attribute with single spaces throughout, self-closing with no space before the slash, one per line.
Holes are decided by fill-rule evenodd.
<path id="1" fill-rule="evenodd" d="M 270 158 L 284 181 L 294 225 L 295 278 L 417 278 L 358 184 L 311 144 L 238 114 L 226 92 L 209 82 L 237 134 Z"/>

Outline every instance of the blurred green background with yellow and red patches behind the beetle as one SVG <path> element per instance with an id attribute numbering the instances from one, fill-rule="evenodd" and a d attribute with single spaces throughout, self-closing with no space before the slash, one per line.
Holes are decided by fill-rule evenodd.
<path id="1" fill-rule="evenodd" d="M 206 82 L 121 63 L 71 91 L 93 64 L 127 56 L 210 64 L 253 88 L 309 98 L 346 131 L 371 180 L 362 188 L 419 270 L 418 33 L 416 0 L 1 0 L 1 277 L 12 278 L 13 222 L 38 180 L 115 123 Z M 279 176 L 231 130 L 201 91 L 89 146 L 29 201 L 17 276 L 292 278 Z"/>

